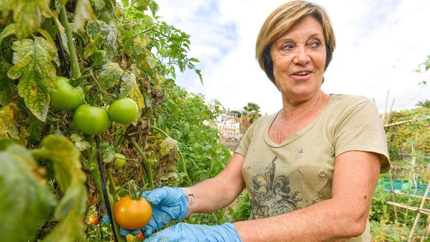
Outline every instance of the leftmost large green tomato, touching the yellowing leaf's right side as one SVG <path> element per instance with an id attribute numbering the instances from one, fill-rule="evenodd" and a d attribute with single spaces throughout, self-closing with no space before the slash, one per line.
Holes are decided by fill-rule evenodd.
<path id="1" fill-rule="evenodd" d="M 81 87 L 75 88 L 70 85 L 69 79 L 59 76 L 54 83 L 58 90 L 49 92 L 49 102 L 52 108 L 70 111 L 84 102 L 84 90 Z"/>

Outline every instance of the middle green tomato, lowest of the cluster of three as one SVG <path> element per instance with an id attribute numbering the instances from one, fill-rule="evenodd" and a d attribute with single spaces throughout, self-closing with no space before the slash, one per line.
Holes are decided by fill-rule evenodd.
<path id="1" fill-rule="evenodd" d="M 73 112 L 73 122 L 79 131 L 98 135 L 109 128 L 110 118 L 104 108 L 84 104 Z"/>

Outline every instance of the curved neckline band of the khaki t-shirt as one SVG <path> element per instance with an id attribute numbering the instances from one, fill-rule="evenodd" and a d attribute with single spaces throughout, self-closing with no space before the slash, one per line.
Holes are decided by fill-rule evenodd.
<path id="1" fill-rule="evenodd" d="M 329 99 L 327 104 L 325 105 L 324 109 L 320 112 L 320 114 L 318 114 L 318 116 L 310 123 L 308 124 L 306 127 L 304 127 L 303 129 L 299 130 L 298 132 L 294 133 L 293 135 L 291 135 L 290 137 L 286 138 L 284 141 L 282 141 L 282 143 L 277 144 L 275 143 L 269 136 L 269 129 L 272 126 L 273 122 L 275 121 L 276 117 L 278 117 L 278 115 L 280 114 L 280 111 L 283 110 L 280 109 L 278 111 L 278 113 L 276 113 L 276 115 L 273 115 L 273 117 L 269 120 L 269 122 L 267 123 L 266 127 L 264 128 L 264 142 L 266 142 L 267 145 L 269 145 L 270 147 L 273 148 L 280 148 L 283 147 L 285 145 L 290 144 L 291 142 L 297 140 L 298 138 L 300 138 L 301 136 L 303 136 L 306 132 L 308 132 L 317 122 L 318 120 L 321 119 L 321 117 L 324 115 L 324 113 L 326 112 L 326 110 L 328 109 L 328 106 L 330 105 L 330 103 L 332 102 L 333 96 L 335 96 L 334 94 L 330 93 L 329 94 Z"/>

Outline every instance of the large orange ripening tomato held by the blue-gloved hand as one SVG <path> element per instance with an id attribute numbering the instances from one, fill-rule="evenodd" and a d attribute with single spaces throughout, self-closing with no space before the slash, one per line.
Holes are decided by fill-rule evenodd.
<path id="1" fill-rule="evenodd" d="M 145 199 L 121 198 L 113 208 L 113 217 L 121 227 L 135 230 L 145 227 L 151 220 L 152 207 Z"/>

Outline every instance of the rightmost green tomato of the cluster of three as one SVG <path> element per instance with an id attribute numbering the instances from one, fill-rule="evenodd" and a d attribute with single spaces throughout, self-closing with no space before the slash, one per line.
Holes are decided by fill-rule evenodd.
<path id="1" fill-rule="evenodd" d="M 109 106 L 110 118 L 119 124 L 131 124 L 137 118 L 139 110 L 133 99 L 125 97 Z"/>

